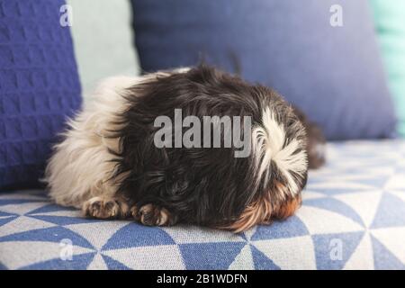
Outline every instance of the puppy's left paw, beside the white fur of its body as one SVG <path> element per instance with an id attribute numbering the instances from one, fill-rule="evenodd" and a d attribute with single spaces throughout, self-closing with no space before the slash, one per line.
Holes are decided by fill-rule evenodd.
<path id="1" fill-rule="evenodd" d="M 113 198 L 93 197 L 83 205 L 85 216 L 98 219 L 124 218 L 125 204 Z"/>

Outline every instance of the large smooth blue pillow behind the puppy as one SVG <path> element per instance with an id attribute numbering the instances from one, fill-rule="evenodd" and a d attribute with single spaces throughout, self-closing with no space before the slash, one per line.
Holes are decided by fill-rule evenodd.
<path id="1" fill-rule="evenodd" d="M 333 4 L 343 26 L 329 23 Z M 146 71 L 201 58 L 275 87 L 329 139 L 383 138 L 396 119 L 366 0 L 132 0 Z M 236 65 L 237 64 L 237 65 Z"/>

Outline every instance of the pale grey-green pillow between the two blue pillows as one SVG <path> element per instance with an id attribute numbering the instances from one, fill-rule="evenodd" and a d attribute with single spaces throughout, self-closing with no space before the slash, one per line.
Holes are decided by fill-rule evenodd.
<path id="1" fill-rule="evenodd" d="M 1 0 L 0 0 L 1 2 Z M 128 0 L 67 0 L 85 99 L 108 76 L 139 75 Z"/>

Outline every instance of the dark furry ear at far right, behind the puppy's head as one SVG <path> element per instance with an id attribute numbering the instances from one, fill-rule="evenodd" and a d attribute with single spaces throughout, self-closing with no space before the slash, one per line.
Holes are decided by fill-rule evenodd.
<path id="1" fill-rule="evenodd" d="M 323 136 L 322 130 L 314 122 L 310 121 L 307 116 L 297 107 L 293 107 L 293 111 L 298 116 L 300 121 L 302 121 L 307 133 L 307 153 L 308 153 L 308 164 L 310 169 L 318 169 L 320 166 L 325 164 L 325 146 L 326 139 Z"/>

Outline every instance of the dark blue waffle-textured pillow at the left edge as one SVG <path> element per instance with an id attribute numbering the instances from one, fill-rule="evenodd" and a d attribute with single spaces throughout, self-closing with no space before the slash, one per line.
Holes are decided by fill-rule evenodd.
<path id="1" fill-rule="evenodd" d="M 63 4 L 0 1 L 0 189 L 39 185 L 51 143 L 80 107 Z"/>

